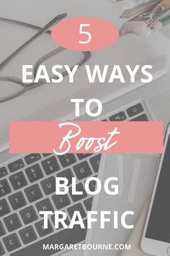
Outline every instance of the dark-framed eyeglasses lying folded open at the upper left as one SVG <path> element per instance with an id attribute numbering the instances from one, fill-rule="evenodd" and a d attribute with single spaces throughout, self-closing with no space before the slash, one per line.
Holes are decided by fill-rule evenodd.
<path id="1" fill-rule="evenodd" d="M 42 34 L 50 35 L 51 31 L 49 30 L 49 28 L 52 27 L 53 25 L 57 24 L 64 18 L 66 18 L 66 16 L 67 16 L 66 13 L 60 14 L 60 15 L 54 17 L 53 20 L 48 22 L 48 24 L 46 24 L 44 27 L 38 27 L 38 26 L 32 25 L 30 23 L 20 22 L 17 20 L 10 20 L 10 19 L 0 17 L 0 22 L 9 22 L 9 23 L 12 23 L 13 25 L 19 25 L 19 26 L 22 26 L 25 28 L 27 27 L 27 28 L 30 28 L 33 30 L 37 30 L 37 33 L 35 33 L 35 35 L 33 35 L 30 39 L 28 39 L 26 42 L 24 42 L 22 44 L 22 46 L 19 46 L 19 48 L 17 48 L 17 50 L 15 50 L 6 59 L 4 59 L 4 61 L 1 62 L 0 71 L 2 69 L 4 69 L 4 67 L 6 67 L 6 65 L 9 64 L 9 62 L 12 61 L 18 54 L 23 52 L 24 49 L 27 48 L 27 46 L 30 46 L 30 44 L 33 43 L 35 40 L 37 40 L 37 38 L 40 38 L 40 36 Z M 35 64 L 33 65 L 34 78 L 36 77 L 37 70 L 38 70 L 38 67 L 40 66 L 40 64 L 45 64 L 45 62 L 47 63 L 47 65 L 56 64 L 55 56 L 58 56 L 59 54 L 63 53 L 63 51 L 66 51 L 66 48 L 63 48 L 63 47 L 55 48 L 53 51 L 46 53 L 45 55 L 40 57 L 37 61 L 35 61 Z M 81 65 L 83 65 L 91 56 L 90 52 L 88 52 L 88 51 L 86 51 L 86 52 L 82 51 L 79 54 L 81 54 L 81 57 L 79 57 L 79 60 L 75 61 L 76 64 L 71 64 L 71 66 L 70 66 L 71 70 L 73 69 L 73 67 L 75 65 L 79 65 L 79 67 L 81 67 Z M 61 72 L 61 74 L 63 75 L 63 77 L 66 77 L 68 72 L 63 71 L 63 72 Z M 53 78 L 53 79 L 58 78 L 58 77 L 53 77 L 53 74 L 51 76 L 52 76 L 51 78 Z M 22 95 L 23 93 L 27 92 L 28 90 L 32 90 L 32 89 L 37 88 L 38 86 L 46 84 L 46 83 L 47 82 L 40 80 L 40 82 L 37 82 L 37 83 L 32 82 L 32 83 L 26 84 L 26 83 L 22 82 L 22 80 L 19 79 L 18 77 L 0 77 L 0 103 L 4 102 L 4 101 L 9 101 L 12 98 L 16 98 L 19 95 Z M 3 95 L 3 91 L 1 90 L 1 88 L 8 88 L 9 90 L 7 90 L 7 93 L 4 92 L 4 95 Z M 16 91 L 16 89 L 17 89 L 17 91 Z"/>

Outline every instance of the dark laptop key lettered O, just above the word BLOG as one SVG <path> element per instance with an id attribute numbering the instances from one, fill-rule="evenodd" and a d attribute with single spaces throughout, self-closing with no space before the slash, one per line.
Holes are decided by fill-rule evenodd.
<path id="1" fill-rule="evenodd" d="M 73 166 L 73 171 L 75 171 L 75 174 L 79 180 L 84 179 L 92 174 L 87 162 L 82 162 L 76 166 Z"/>

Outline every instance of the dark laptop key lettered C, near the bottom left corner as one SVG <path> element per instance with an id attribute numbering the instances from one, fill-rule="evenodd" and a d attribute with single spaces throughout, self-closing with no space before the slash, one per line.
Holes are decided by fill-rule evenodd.
<path id="1" fill-rule="evenodd" d="M 10 236 L 4 237 L 3 242 L 8 252 L 11 252 L 21 246 L 17 234 L 11 234 Z"/>

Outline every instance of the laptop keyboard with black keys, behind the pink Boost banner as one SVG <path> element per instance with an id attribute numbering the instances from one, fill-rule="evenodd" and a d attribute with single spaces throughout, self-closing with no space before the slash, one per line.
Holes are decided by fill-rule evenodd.
<path id="1" fill-rule="evenodd" d="M 142 103 L 107 115 L 102 121 L 148 121 Z M 53 255 L 59 250 L 45 251 L 42 244 L 76 244 L 86 238 L 86 229 L 54 229 L 54 216 L 48 229 L 43 229 L 40 210 L 64 210 L 67 224 L 75 210 L 86 223 L 86 211 L 91 210 L 93 197 L 86 194 L 84 182 L 97 176 L 100 155 L 93 154 L 29 154 L 22 155 L 0 167 L 0 256 Z M 55 195 L 55 176 L 66 177 L 68 195 Z M 71 179 L 76 177 L 76 190 L 71 195 Z M 95 182 L 90 189 L 94 191 Z"/>

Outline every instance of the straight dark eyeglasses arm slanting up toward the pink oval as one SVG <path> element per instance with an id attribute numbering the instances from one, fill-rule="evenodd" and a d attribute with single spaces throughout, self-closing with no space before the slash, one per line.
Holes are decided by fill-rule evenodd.
<path id="1" fill-rule="evenodd" d="M 46 30 L 48 30 L 51 26 L 53 26 L 55 23 L 60 22 L 61 20 L 63 20 L 65 17 L 67 17 L 66 13 L 60 14 L 56 17 L 53 18 L 53 20 L 51 20 L 50 22 L 48 22 L 47 25 L 45 25 L 44 27 L 42 27 L 35 35 L 32 36 L 32 38 L 30 38 L 29 40 L 27 40 L 25 43 L 22 44 L 22 46 L 20 46 L 19 48 L 17 48 L 16 51 L 14 51 L 12 54 L 10 54 L 4 61 L 1 62 L 0 64 L 0 70 L 3 69 L 6 64 L 9 63 L 9 61 L 11 61 L 15 56 L 17 56 L 17 54 L 19 54 L 22 50 L 24 50 L 24 48 L 26 48 L 27 46 L 30 45 L 30 43 L 32 43 L 34 40 L 36 40 L 37 38 L 40 37 L 40 35 L 42 35 L 43 33 L 46 32 Z"/>

